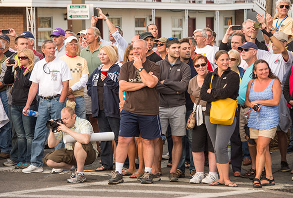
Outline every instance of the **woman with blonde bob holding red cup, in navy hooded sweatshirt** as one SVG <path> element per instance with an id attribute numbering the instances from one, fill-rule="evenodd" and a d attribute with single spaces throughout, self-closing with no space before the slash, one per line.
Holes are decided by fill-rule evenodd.
<path id="1" fill-rule="evenodd" d="M 101 64 L 93 71 L 87 82 L 88 95 L 92 99 L 92 115 L 98 118 L 100 133 L 113 131 L 118 143 L 120 110 L 118 97 L 118 76 L 120 72 L 117 53 L 111 46 L 103 46 L 99 51 Z M 96 171 L 113 169 L 112 141 L 102 141 L 102 165 Z"/>

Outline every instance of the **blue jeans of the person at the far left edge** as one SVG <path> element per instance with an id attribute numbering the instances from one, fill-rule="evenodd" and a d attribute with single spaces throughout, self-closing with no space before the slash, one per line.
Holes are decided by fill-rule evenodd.
<path id="1" fill-rule="evenodd" d="M 8 111 L 8 99 L 6 95 L 6 90 L 0 92 L 0 98 L 6 112 L 6 115 L 9 116 Z M 8 122 L 0 128 L 0 150 L 1 152 L 9 153 L 11 149 L 11 125 Z"/>

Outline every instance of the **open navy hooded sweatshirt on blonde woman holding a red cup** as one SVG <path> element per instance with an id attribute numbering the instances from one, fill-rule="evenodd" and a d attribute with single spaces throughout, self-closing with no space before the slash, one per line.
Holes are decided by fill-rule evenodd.
<path id="1" fill-rule="evenodd" d="M 99 115 L 99 97 L 98 97 L 98 80 L 101 76 L 103 64 L 93 71 L 87 82 L 87 94 L 92 99 L 92 114 L 93 117 Z M 103 83 L 103 107 L 106 117 L 120 118 L 119 110 L 119 84 L 117 83 L 120 73 L 120 67 L 113 64 L 108 71 L 107 77 Z"/>

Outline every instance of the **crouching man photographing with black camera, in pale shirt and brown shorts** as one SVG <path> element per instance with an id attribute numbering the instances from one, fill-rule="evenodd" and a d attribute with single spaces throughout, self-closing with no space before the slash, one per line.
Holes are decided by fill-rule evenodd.
<path id="1" fill-rule="evenodd" d="M 68 183 L 85 182 L 86 177 L 83 174 L 83 167 L 93 163 L 98 156 L 96 144 L 90 143 L 91 134 L 93 133 L 92 125 L 89 121 L 77 117 L 74 110 L 68 106 L 61 110 L 61 119 L 63 123 L 58 122 L 57 130 L 53 129 L 52 131 L 52 128 L 50 129 L 48 146 L 50 148 L 56 147 L 63 139 L 63 136 L 67 134 L 76 141 L 66 143 L 65 148 L 48 153 L 44 157 L 44 163 L 52 168 L 70 169 L 72 174 L 67 179 Z M 77 171 L 74 172 L 76 167 Z"/>

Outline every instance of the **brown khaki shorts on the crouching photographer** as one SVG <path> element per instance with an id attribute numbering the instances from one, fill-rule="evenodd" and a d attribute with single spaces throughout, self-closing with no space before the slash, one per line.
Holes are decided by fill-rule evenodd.
<path id="1" fill-rule="evenodd" d="M 48 159 L 55 161 L 56 163 L 64 162 L 70 165 L 77 165 L 76 159 L 74 157 L 74 146 L 73 150 L 67 150 L 66 148 L 60 148 L 48 153 L 43 160 L 43 163 L 46 164 Z M 87 156 L 84 162 L 84 165 L 88 165 L 93 163 L 96 160 L 96 152 L 93 149 L 93 145 L 91 143 L 84 145 L 82 144 L 82 148 L 86 151 Z"/>

